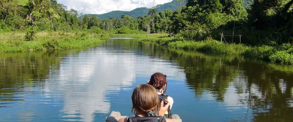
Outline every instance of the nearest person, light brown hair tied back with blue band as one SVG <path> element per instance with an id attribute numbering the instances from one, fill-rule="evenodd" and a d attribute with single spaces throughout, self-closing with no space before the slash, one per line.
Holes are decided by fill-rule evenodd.
<path id="1" fill-rule="evenodd" d="M 172 119 L 164 117 L 170 102 L 164 106 L 164 102 L 160 100 L 155 88 L 148 84 L 141 84 L 134 88 L 132 96 L 132 112 L 135 117 L 121 118 L 118 122 L 174 122 Z M 155 113 L 159 116 L 155 116 Z"/>

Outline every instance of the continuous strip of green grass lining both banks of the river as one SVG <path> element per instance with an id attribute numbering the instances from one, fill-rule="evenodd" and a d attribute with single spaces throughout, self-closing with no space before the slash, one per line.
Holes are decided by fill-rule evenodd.
<path id="1" fill-rule="evenodd" d="M 9 36 L 12 34 L 7 33 L 5 35 Z M 175 49 L 201 51 L 209 54 L 244 56 L 272 63 L 293 65 L 293 47 L 289 44 L 247 46 L 244 44 L 221 43 L 213 39 L 185 41 L 180 38 L 170 38 L 166 34 L 88 34 L 86 32 L 66 34 L 55 32 L 53 34 L 48 34 L 41 32 L 36 35 L 35 41 L 23 41 L 21 39 L 2 40 L 2 42 L 0 42 L 0 52 L 46 51 L 93 47 L 114 36 L 137 38 L 140 41 L 151 41 Z"/>

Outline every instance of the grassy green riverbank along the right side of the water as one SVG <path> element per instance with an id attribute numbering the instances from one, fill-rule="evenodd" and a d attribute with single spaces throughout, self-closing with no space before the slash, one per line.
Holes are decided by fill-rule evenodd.
<path id="1" fill-rule="evenodd" d="M 290 44 L 275 46 L 247 46 L 244 44 L 226 44 L 213 39 L 204 41 L 184 41 L 162 34 L 123 34 L 140 41 L 152 41 L 169 48 L 201 51 L 209 54 L 244 56 L 272 63 L 293 65 L 293 47 Z"/>

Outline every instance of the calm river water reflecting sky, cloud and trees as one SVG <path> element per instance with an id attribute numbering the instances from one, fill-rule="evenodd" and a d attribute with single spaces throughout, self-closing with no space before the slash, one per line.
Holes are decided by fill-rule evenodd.
<path id="1" fill-rule="evenodd" d="M 94 48 L 0 54 L 0 121 L 96 121 L 131 113 L 131 94 L 167 75 L 184 122 L 293 121 L 293 68 L 168 49 L 135 39 Z"/>

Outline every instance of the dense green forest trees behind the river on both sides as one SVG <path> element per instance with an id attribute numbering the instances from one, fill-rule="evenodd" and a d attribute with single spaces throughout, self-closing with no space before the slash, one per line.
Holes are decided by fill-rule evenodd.
<path id="1" fill-rule="evenodd" d="M 293 0 L 176 0 L 183 7 L 172 11 L 150 9 L 144 16 L 133 18 L 122 14 L 119 18 L 99 19 L 96 16 L 81 16 L 76 10 L 58 4 L 56 0 L 0 0 L 0 33 L 25 30 L 26 38 L 33 40 L 39 31 L 78 32 L 92 34 L 153 34 L 167 33 L 183 41 L 200 41 L 208 47 L 196 50 L 216 50 L 221 54 L 254 56 L 276 63 L 293 62 Z M 163 5 L 161 5 L 163 6 Z M 234 43 L 257 46 L 237 48 Z M 208 43 L 204 40 L 221 40 L 232 43 Z M 189 42 L 184 42 L 188 48 Z M 177 46 L 175 46 L 175 44 Z M 180 47 L 180 42 L 171 44 Z M 244 46 L 245 46 L 244 45 Z M 268 48 L 262 48 L 265 45 Z M 285 46 L 284 46 L 285 45 Z M 222 47 L 222 48 L 221 48 Z M 284 48 L 286 47 L 286 48 Z M 241 47 L 243 48 L 243 47 Z M 218 50 L 219 49 L 219 50 Z M 226 52 L 228 51 L 228 52 Z M 236 52 L 235 52 L 236 51 Z"/>

